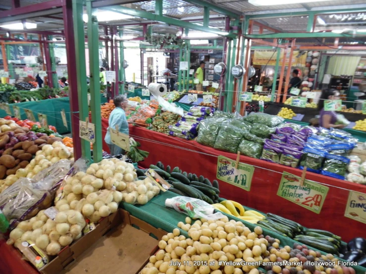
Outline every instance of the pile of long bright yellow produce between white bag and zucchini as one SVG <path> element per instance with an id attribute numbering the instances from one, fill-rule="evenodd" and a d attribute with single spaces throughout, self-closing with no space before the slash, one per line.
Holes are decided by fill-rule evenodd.
<path id="1" fill-rule="evenodd" d="M 257 222 L 263 220 L 265 217 L 255 210 L 245 211 L 241 204 L 231 200 L 225 200 L 219 204 L 213 204 L 212 206 L 221 212 L 230 214 L 251 224 L 257 224 Z"/>

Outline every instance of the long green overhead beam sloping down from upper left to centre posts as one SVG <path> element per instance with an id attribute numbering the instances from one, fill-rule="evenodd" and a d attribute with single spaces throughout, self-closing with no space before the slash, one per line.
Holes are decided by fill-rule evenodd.
<path id="1" fill-rule="evenodd" d="M 221 30 L 216 29 L 216 28 L 208 28 L 208 27 L 196 25 L 196 24 L 193 24 L 193 23 L 190 23 L 190 22 L 170 18 L 170 17 L 167 17 L 167 16 L 162 16 L 162 15 L 150 13 L 150 12 L 143 11 L 143 10 L 137 10 L 137 9 L 128 8 L 128 7 L 124 7 L 124 6 L 111 6 L 111 7 L 104 7 L 103 9 L 118 12 L 118 13 L 122 13 L 122 14 L 131 15 L 131 16 L 141 17 L 141 18 L 145 18 L 145 19 L 149 19 L 149 20 L 155 20 L 155 21 L 158 21 L 158 22 L 166 23 L 168 25 L 175 25 L 175 26 L 182 27 L 182 28 L 214 33 L 214 34 L 226 36 L 226 37 L 229 37 L 229 38 L 235 38 L 236 37 L 236 35 L 234 35 L 234 34 L 229 34 L 225 31 L 221 31 Z"/>

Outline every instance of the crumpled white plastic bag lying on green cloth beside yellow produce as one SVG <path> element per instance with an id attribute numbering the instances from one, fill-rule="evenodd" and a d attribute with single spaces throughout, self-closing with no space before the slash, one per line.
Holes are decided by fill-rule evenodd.
<path id="1" fill-rule="evenodd" d="M 173 198 L 166 199 L 165 206 L 174 208 L 176 211 L 184 213 L 191 218 L 217 220 L 224 217 L 221 212 L 214 213 L 214 207 L 207 202 L 185 196 L 175 196 Z"/>

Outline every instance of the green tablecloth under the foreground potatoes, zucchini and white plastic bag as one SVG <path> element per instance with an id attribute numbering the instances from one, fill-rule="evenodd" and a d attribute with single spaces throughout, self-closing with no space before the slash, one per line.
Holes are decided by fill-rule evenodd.
<path id="1" fill-rule="evenodd" d="M 172 198 L 177 196 L 177 194 L 166 191 L 160 191 L 160 194 L 154 197 L 151 201 L 149 201 L 145 205 L 131 205 L 126 202 L 122 202 L 120 207 L 127 210 L 132 216 L 139 218 L 155 228 L 161 228 L 167 232 L 172 232 L 174 228 L 178 228 L 177 225 L 179 222 L 185 223 L 186 215 L 175 211 L 172 208 L 165 207 L 165 200 L 168 198 Z M 244 207 L 246 210 L 249 208 Z M 227 215 L 223 213 L 224 215 Z M 233 219 L 239 222 L 243 222 L 246 227 L 250 228 L 252 231 L 257 226 L 256 224 L 250 224 L 241 219 L 238 219 L 234 216 L 227 215 L 229 220 Z M 188 236 L 187 232 L 180 229 L 181 234 Z M 271 237 L 275 237 L 281 241 L 281 246 L 289 245 L 293 247 L 295 241 L 289 237 L 281 236 L 271 230 L 263 228 L 264 235 L 270 235 Z M 312 248 L 313 250 L 316 250 Z M 325 254 L 324 252 L 321 252 Z M 363 267 L 353 267 L 356 270 L 357 274 L 365 274 L 366 269 Z"/>

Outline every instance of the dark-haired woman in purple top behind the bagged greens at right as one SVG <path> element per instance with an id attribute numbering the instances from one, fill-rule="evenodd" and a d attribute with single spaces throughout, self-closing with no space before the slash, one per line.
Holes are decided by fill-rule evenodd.
<path id="1" fill-rule="evenodd" d="M 319 126 L 330 129 L 342 129 L 345 125 L 336 125 L 337 113 L 335 111 L 325 111 L 324 101 L 325 100 L 337 100 L 339 99 L 339 92 L 334 89 L 326 89 L 321 91 L 321 95 L 318 102 L 318 110 L 320 110 Z"/>

